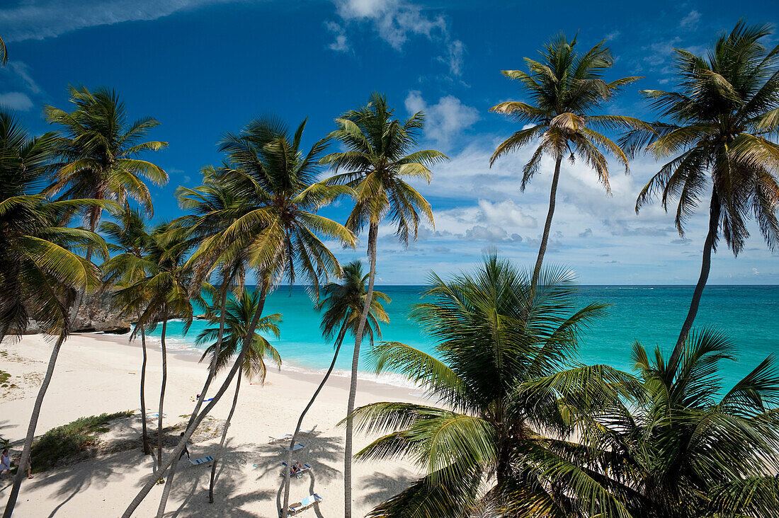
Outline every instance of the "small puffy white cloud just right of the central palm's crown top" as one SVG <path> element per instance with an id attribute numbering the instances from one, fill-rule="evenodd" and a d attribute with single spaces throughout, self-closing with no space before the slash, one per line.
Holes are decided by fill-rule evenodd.
<path id="1" fill-rule="evenodd" d="M 463 104 L 453 95 L 441 97 L 437 104 L 427 104 L 418 90 L 408 93 L 406 110 L 410 115 L 425 111 L 425 136 L 439 146 L 448 146 L 454 136 L 479 120 L 476 108 Z"/>

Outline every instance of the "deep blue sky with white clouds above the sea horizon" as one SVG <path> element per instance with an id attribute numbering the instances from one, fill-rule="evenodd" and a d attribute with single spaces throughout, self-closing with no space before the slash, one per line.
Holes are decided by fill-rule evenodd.
<path id="1" fill-rule="evenodd" d="M 0 35 L 10 61 L 0 69 L 0 104 L 44 132 L 41 107 L 67 107 L 69 84 L 110 86 L 131 118 L 157 118 L 151 138 L 170 146 L 148 158 L 171 178 L 153 189 L 157 220 L 178 216 L 174 189 L 198 185 L 200 168 L 220 161 L 220 135 L 257 115 L 290 125 L 308 117 L 310 144 L 372 90 L 386 93 L 399 116 L 424 109 L 421 145 L 451 158 L 430 185 L 418 185 L 432 203 L 435 230 L 423 228 L 404 250 L 382 227 L 379 243 L 382 284 L 421 284 L 429 270 L 467 269 L 488 246 L 534 261 L 550 167 L 525 192 L 517 178 L 527 151 L 488 167 L 497 143 L 517 129 L 489 107 L 522 99 L 500 70 L 522 68 L 523 57 L 560 31 L 578 32 L 587 48 L 605 39 L 616 58 L 609 77 L 645 76 L 608 111 L 650 119 L 639 90 L 673 87 L 671 49 L 703 51 L 739 17 L 776 24 L 779 3 L 6 0 Z M 608 197 L 583 164 L 564 165 L 547 260 L 571 267 L 582 284 L 693 284 L 706 205 L 689 221 L 686 240 L 657 206 L 636 216 L 636 193 L 657 168 L 647 157 L 633 162 L 629 176 L 612 167 Z M 344 220 L 346 201 L 326 213 Z M 336 249 L 343 260 L 364 257 L 362 249 Z M 717 253 L 710 283 L 779 284 L 779 255 L 753 227 L 738 259 L 724 247 Z"/>

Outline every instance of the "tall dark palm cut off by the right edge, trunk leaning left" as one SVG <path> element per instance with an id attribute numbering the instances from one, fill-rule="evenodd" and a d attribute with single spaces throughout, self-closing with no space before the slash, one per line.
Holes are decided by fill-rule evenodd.
<path id="1" fill-rule="evenodd" d="M 633 152 L 645 149 L 658 159 L 673 157 L 640 192 L 636 213 L 658 193 L 666 210 L 669 199 L 679 199 L 675 224 L 683 237 L 687 219 L 711 192 L 700 277 L 671 364 L 679 360 L 693 326 L 720 229 L 734 255 L 749 236 L 750 212 L 770 249 L 779 239 L 779 46 L 763 46 L 769 27 L 739 21 L 731 33 L 721 34 L 705 58 L 676 50 L 679 91 L 643 91 L 668 122 L 654 122 L 622 139 Z"/>

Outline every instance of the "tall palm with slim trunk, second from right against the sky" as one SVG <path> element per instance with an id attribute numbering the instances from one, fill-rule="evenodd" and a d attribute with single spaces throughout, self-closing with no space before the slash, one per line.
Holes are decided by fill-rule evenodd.
<path id="1" fill-rule="evenodd" d="M 538 143 L 530 160 L 522 168 L 521 189 L 524 191 L 530 179 L 538 173 L 543 157 L 552 157 L 555 160 L 552 188 L 549 191 L 549 210 L 533 270 L 534 284 L 538 282 L 549 231 L 552 228 L 563 157 L 568 156 L 572 162 L 578 157 L 587 166 L 592 167 L 598 180 L 610 194 L 608 161 L 603 152 L 612 154 L 622 163 L 626 174 L 629 172 L 628 159 L 617 144 L 595 129 L 648 128 L 636 118 L 593 114 L 594 111 L 601 110 L 623 86 L 640 78 L 623 77 L 606 83 L 602 79 L 603 74 L 614 64 L 608 48 L 601 42 L 580 54 L 576 50 L 576 44 L 576 37 L 573 41 L 568 41 L 565 35 L 560 34 L 541 51 L 540 61 L 525 58 L 530 73 L 503 70 L 502 74 L 509 79 L 520 80 L 531 102 L 510 100 L 490 109 L 510 115 L 521 125 L 530 125 L 515 132 L 498 146 L 490 158 L 490 167 L 502 155 Z"/>

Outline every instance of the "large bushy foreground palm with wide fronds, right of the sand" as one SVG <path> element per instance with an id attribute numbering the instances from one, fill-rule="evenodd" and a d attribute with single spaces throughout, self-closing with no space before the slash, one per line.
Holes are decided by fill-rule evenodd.
<path id="1" fill-rule="evenodd" d="M 450 281 L 432 274 L 425 293 L 432 301 L 416 305 L 412 318 L 435 340 L 435 357 L 397 342 L 374 347 L 375 372 L 406 375 L 441 406 L 371 403 L 354 411 L 356 428 L 387 433 L 356 459 L 404 457 L 425 472 L 368 516 L 479 516 L 507 503 L 497 516 L 626 516 L 588 473 L 590 430 L 578 426 L 601 407 L 598 398 L 618 395 L 612 385 L 629 380 L 571 359 L 604 306 L 576 311 L 567 270 L 542 270 L 540 280 L 532 284 L 495 255 Z M 569 442 L 576 435 L 583 445 Z M 569 449 L 579 463 L 567 458 Z"/>

